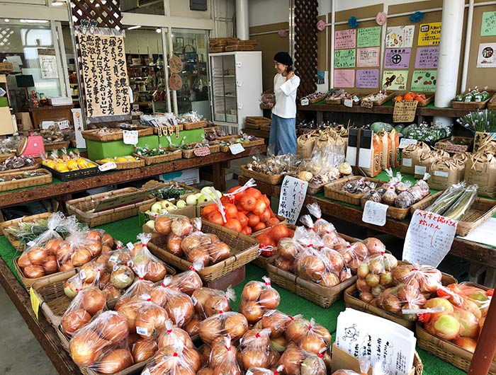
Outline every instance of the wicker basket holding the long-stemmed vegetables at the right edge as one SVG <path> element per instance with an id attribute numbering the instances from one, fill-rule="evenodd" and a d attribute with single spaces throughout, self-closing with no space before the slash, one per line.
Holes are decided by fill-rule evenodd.
<path id="1" fill-rule="evenodd" d="M 426 209 L 434 203 L 439 195 L 441 195 L 441 192 L 437 192 L 436 194 L 427 197 L 427 199 L 421 200 L 415 204 L 415 209 Z M 484 221 L 494 214 L 496 214 L 496 200 L 477 198 L 465 216 L 461 218 L 461 220 L 458 220 L 456 234 L 458 234 L 458 236 L 467 236 L 468 233 L 480 226 L 480 224 L 483 224 Z"/>

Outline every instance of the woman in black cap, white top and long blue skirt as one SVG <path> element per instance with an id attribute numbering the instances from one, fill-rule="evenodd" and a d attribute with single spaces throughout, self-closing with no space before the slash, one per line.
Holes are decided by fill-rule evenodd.
<path id="1" fill-rule="evenodd" d="M 293 59 L 287 52 L 274 56 L 274 96 L 269 150 L 275 155 L 296 152 L 296 91 L 300 78 L 293 72 Z"/>

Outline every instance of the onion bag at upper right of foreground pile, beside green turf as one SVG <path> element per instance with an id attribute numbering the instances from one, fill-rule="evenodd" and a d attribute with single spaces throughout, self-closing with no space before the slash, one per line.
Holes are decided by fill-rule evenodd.
<path id="1" fill-rule="evenodd" d="M 264 282 L 251 281 L 244 285 L 239 312 L 249 324 L 257 323 L 264 313 L 279 306 L 281 296 L 271 286 L 271 279 L 264 276 Z"/>

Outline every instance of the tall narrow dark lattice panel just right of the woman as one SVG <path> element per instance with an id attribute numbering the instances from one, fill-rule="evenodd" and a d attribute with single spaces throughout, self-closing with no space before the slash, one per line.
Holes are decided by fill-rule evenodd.
<path id="1" fill-rule="evenodd" d="M 318 0 L 294 0 L 295 73 L 300 77 L 298 100 L 317 90 Z"/>

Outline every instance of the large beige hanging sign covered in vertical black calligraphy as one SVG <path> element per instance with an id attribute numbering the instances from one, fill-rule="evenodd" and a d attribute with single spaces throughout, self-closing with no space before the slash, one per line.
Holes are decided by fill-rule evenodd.
<path id="1" fill-rule="evenodd" d="M 77 33 L 81 51 L 86 117 L 123 116 L 131 112 L 124 38 Z"/>

